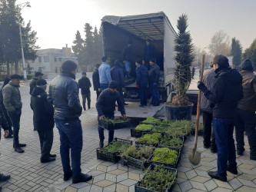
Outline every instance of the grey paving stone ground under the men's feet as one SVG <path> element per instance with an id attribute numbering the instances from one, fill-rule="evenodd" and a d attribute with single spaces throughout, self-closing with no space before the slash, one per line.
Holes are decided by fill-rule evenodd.
<path id="1" fill-rule="evenodd" d="M 91 78 L 91 74 L 88 74 Z M 20 88 L 23 108 L 20 130 L 20 141 L 27 144 L 24 154 L 15 153 L 12 139 L 2 137 L 0 141 L 0 172 L 10 174 L 12 178 L 0 183 L 3 192 L 6 191 L 66 191 L 66 192 L 125 192 L 135 191 L 135 184 L 144 176 L 141 170 L 123 167 L 121 163 L 113 164 L 108 161 L 97 160 L 98 124 L 95 111 L 95 91 L 91 89 L 92 109 L 83 111 L 81 124 L 83 127 L 83 150 L 81 153 L 81 169 L 83 173 L 93 175 L 93 180 L 81 184 L 72 184 L 71 180 L 63 181 L 62 162 L 59 154 L 59 135 L 55 128 L 52 154 L 57 154 L 56 161 L 40 163 L 40 148 L 38 134 L 33 131 L 32 110 L 30 109 L 30 95 L 28 82 L 22 82 Z M 105 131 L 105 137 L 108 132 Z M 134 141 L 130 137 L 130 129 L 115 131 L 115 137 Z M 245 136 L 245 152 L 237 157 L 238 175 L 228 173 L 228 182 L 213 180 L 208 176 L 208 170 L 217 170 L 217 155 L 204 149 L 202 137 L 198 137 L 198 151 L 201 151 L 201 162 L 197 166 L 190 164 L 188 149 L 193 146 L 194 137 L 188 137 L 178 164 L 178 184 L 173 191 L 256 191 L 256 161 L 249 160 L 248 139 Z M 105 143 L 106 144 L 106 143 Z"/>

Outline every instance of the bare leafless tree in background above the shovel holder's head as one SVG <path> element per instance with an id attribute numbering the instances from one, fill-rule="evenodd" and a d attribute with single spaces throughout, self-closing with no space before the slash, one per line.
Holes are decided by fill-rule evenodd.
<path id="1" fill-rule="evenodd" d="M 216 32 L 211 38 L 211 44 L 209 45 L 210 54 L 225 55 L 228 56 L 231 53 L 231 41 L 224 31 Z"/>

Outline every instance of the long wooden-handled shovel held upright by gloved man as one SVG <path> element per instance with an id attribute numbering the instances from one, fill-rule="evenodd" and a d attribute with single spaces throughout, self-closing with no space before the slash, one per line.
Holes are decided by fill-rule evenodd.
<path id="1" fill-rule="evenodd" d="M 203 80 L 204 74 L 204 55 L 202 55 L 202 62 L 201 62 L 201 71 L 200 71 L 200 81 Z M 201 102 L 201 91 L 198 90 L 198 110 L 197 110 L 197 124 L 195 128 L 194 134 L 194 148 L 189 149 L 188 159 L 191 164 L 198 165 L 201 159 L 201 152 L 197 151 L 198 146 L 198 127 L 199 127 L 199 117 L 200 117 L 200 102 Z"/>

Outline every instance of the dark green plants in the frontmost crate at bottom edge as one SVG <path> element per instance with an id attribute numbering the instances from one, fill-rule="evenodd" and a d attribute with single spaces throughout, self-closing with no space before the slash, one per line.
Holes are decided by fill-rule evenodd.
<path id="1" fill-rule="evenodd" d="M 146 171 L 145 177 L 141 180 L 139 186 L 148 188 L 149 190 L 165 192 L 166 189 L 174 185 L 176 181 L 175 172 L 156 166 L 154 170 Z"/>

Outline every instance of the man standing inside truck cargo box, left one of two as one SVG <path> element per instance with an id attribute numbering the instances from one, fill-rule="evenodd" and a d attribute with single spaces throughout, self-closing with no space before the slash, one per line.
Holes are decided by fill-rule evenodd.
<path id="1" fill-rule="evenodd" d="M 130 75 L 130 73 L 131 73 L 131 56 L 132 56 L 131 45 L 132 45 L 132 41 L 129 40 L 127 45 L 125 45 L 125 47 L 121 51 L 121 56 L 122 56 L 123 62 L 125 63 L 125 71 L 127 73 L 125 75 L 125 78 L 131 78 L 131 75 Z"/>

